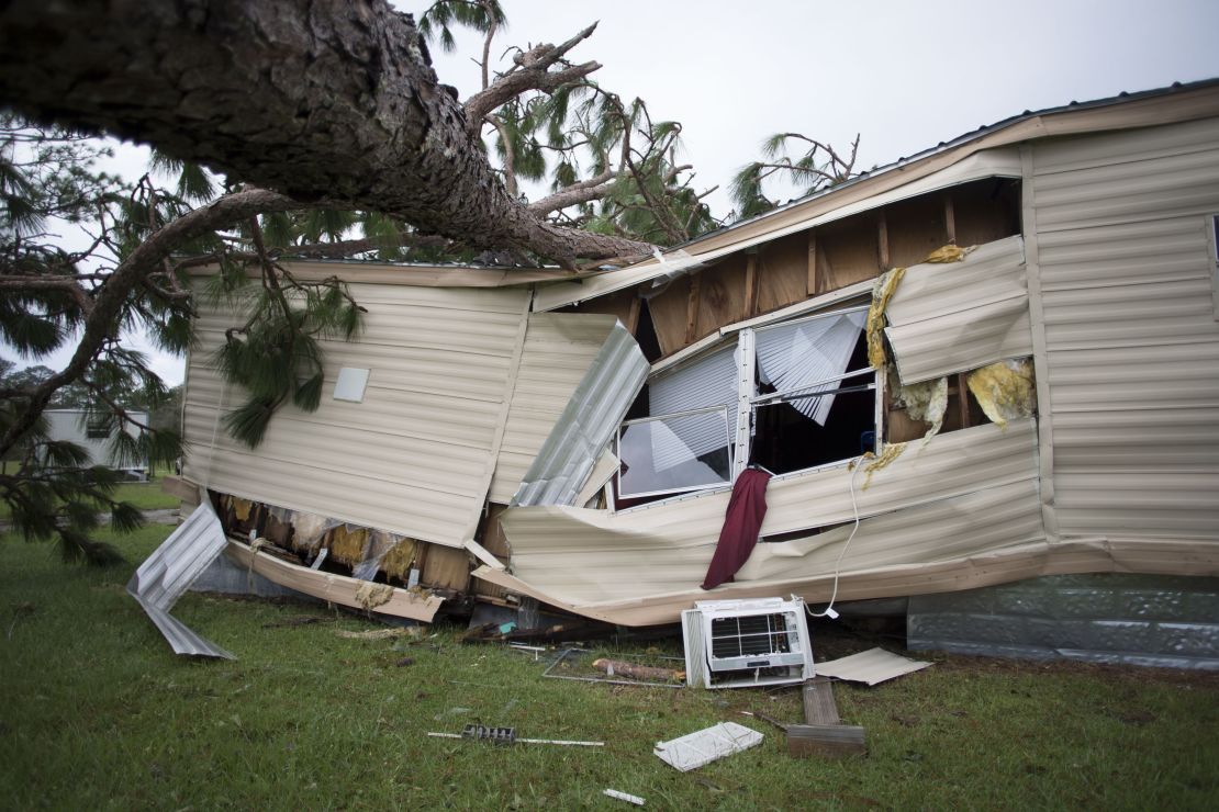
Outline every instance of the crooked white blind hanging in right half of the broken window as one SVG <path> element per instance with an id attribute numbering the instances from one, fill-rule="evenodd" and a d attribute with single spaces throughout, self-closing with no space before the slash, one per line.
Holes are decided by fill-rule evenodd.
<path id="1" fill-rule="evenodd" d="M 855 310 L 759 329 L 756 336 L 758 377 L 763 383 L 774 386 L 777 392 L 791 392 L 842 375 L 851 363 L 867 318 L 865 310 Z M 837 387 L 839 383 L 831 382 L 812 391 L 825 392 Z M 834 396 L 798 398 L 791 401 L 791 405 L 824 426 L 834 407 Z"/>

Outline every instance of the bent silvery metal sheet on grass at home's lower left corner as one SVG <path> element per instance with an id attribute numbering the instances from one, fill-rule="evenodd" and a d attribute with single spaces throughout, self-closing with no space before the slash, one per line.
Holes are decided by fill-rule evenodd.
<path id="1" fill-rule="evenodd" d="M 169 615 L 182 593 L 216 560 L 224 545 L 224 528 L 211 502 L 205 499 L 127 582 L 127 594 L 144 607 L 176 654 L 236 659 Z"/>

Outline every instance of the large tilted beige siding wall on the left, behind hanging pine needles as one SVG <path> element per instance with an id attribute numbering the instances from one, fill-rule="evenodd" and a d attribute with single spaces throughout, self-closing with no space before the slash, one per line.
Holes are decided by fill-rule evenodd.
<path id="1" fill-rule="evenodd" d="M 252 452 L 218 425 L 241 393 L 208 365 L 236 318 L 205 308 L 188 369 L 184 472 L 224 493 L 461 547 L 483 509 L 528 291 L 351 292 L 368 309 L 364 330 L 358 342 L 323 342 L 321 407 L 283 407 Z M 362 403 L 333 399 L 340 366 L 372 370 Z"/>

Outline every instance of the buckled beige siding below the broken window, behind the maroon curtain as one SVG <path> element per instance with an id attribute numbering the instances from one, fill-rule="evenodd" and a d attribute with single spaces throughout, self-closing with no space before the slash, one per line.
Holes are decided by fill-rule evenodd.
<path id="1" fill-rule="evenodd" d="M 859 515 L 884 515 L 868 521 L 896 531 L 878 533 L 874 542 L 861 542 L 857 536 L 852 549 L 859 543 L 859 561 L 868 565 L 883 561 L 887 555 L 902 560 L 934 556 L 930 548 L 935 545 L 935 522 L 944 523 L 946 537 L 956 533 L 954 538 L 967 545 L 972 532 L 978 550 L 1041 536 L 1040 502 L 1035 487 L 1036 426 L 1032 420 L 1012 422 L 1006 431 L 985 425 L 940 435 L 926 446 L 911 443 L 894 463 L 873 474 L 867 488 L 867 471 L 852 472 L 845 466 L 777 477 L 767 489 L 768 510 L 762 534 L 775 536 L 851 521 L 855 515 L 851 508 L 852 476 Z M 978 521 L 986 515 L 981 511 L 984 503 L 998 513 L 1011 514 L 1009 526 L 1004 528 L 987 531 L 975 523 L 970 530 L 962 525 L 975 521 L 967 516 L 968 511 L 942 504 L 944 500 L 995 491 L 1002 491 L 1000 500 L 1011 504 L 998 509 L 993 500 L 986 502 L 981 497 L 967 499 L 964 504 L 979 508 Z M 501 521 L 512 544 L 513 571 L 531 587 L 577 604 L 644 598 L 690 589 L 701 582 L 714 553 L 728 498 L 728 491 L 720 491 L 618 514 L 555 506 L 513 508 L 503 513 Z M 933 509 L 930 505 L 940 506 Z M 918 523 L 918 511 L 923 508 L 930 511 L 928 516 L 934 516 L 928 519 L 924 528 L 933 532 L 900 532 L 906 517 Z M 845 538 L 840 530 L 807 542 L 813 548 L 807 566 L 802 562 L 797 567 L 792 562 L 786 569 L 807 570 L 809 575 L 831 572 L 833 558 L 840 550 L 834 541 Z M 996 538 L 992 532 L 1000 537 Z M 864 538 L 867 536 L 864 532 Z M 820 543 L 829 547 L 817 550 Z M 794 550 L 800 544 L 789 542 L 775 545 L 772 553 Z M 917 553 L 903 553 L 906 545 L 918 548 Z M 951 541 L 946 545 L 957 553 L 962 550 Z M 759 544 L 756 549 L 762 548 L 770 549 L 770 545 Z M 751 565 L 752 559 L 746 564 L 746 571 Z M 772 575 L 763 569 L 758 577 L 769 578 Z M 742 578 L 737 576 L 739 582 Z"/>

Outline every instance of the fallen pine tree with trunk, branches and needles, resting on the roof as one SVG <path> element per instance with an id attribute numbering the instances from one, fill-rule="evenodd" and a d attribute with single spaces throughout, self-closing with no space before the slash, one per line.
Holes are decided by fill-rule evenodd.
<path id="1" fill-rule="evenodd" d="M 717 225 L 702 202 L 711 190 L 696 191 L 679 162 L 680 124 L 599 86 L 599 63 L 569 60 L 595 26 L 510 47 L 501 63 L 491 54 L 505 24 L 497 0 L 439 0 L 419 26 L 384 0 L 0 9 L 0 101 L 59 123 L 10 116 L 0 133 L 0 335 L 34 360 L 74 346 L 63 369 L 0 390 L 0 454 L 23 460 L 0 478 L 0 498 L 18 530 L 104 559 L 87 538 L 96 509 L 134 522 L 110 500 L 112 472 L 48 439 L 40 416 L 68 387 L 91 420 L 116 427 L 139 422 L 137 405 L 167 408 L 163 382 L 122 336 L 143 330 L 184 351 L 190 268 L 218 268 L 204 295 L 243 314 L 216 363 L 247 393 L 227 427 L 255 446 L 278 408 L 317 407 L 318 338 L 360 330 L 341 281 L 302 284 L 284 257 L 490 251 L 578 268 Z M 464 102 L 428 54 L 457 26 L 483 39 L 482 86 Z M 150 142 L 155 172 L 130 184 L 96 172 L 99 147 L 63 127 Z M 60 247 L 55 222 L 80 225 L 90 245 Z M 138 441 L 117 432 L 132 446 L 118 450 L 179 454 L 173 427 L 138 427 Z"/>

